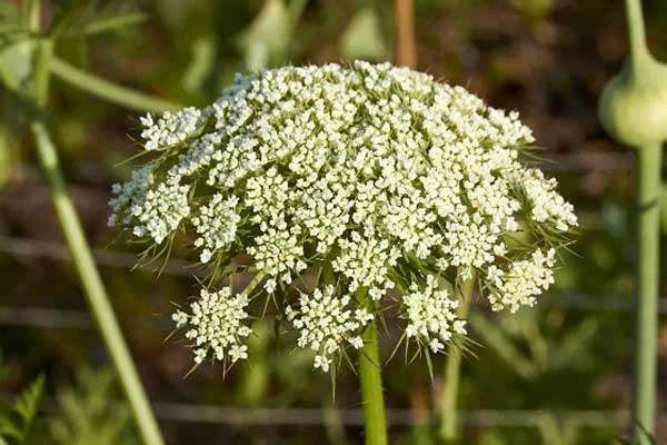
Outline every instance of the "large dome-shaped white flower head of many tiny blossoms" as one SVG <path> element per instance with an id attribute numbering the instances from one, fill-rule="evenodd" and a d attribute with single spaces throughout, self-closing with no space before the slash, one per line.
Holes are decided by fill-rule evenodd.
<path id="1" fill-rule="evenodd" d="M 399 286 L 410 285 L 402 304 L 421 317 L 409 318 L 415 335 L 437 339 L 434 350 L 462 324 L 426 277 L 475 275 L 495 310 L 516 310 L 550 284 L 548 246 L 577 225 L 556 181 L 520 162 L 534 138 L 518 113 L 389 63 L 238 76 L 211 106 L 142 123 L 153 159 L 113 187 L 110 225 L 158 244 L 193 228 L 202 263 L 223 267 L 211 259 L 247 254 L 267 294 L 323 264 L 336 289 L 365 289 L 377 305 L 397 279 L 412 280 Z M 515 248 L 519 231 L 541 247 Z M 308 322 L 293 318 L 302 335 L 344 310 L 345 297 L 326 298 Z M 439 305 L 445 318 L 424 305 Z M 327 338 L 335 340 L 318 348 L 321 368 L 340 343 Z"/>

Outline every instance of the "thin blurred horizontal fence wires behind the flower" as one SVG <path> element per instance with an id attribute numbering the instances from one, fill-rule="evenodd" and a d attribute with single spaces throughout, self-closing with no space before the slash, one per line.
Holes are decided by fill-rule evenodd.
<path id="1" fill-rule="evenodd" d="M 634 169 L 631 154 L 593 152 L 550 156 L 541 168 L 551 171 L 580 174 L 585 171 L 627 171 Z M 583 215 L 588 229 L 598 229 L 599 218 L 594 214 Z M 0 235 L 0 253 L 22 258 L 46 258 L 54 261 L 70 261 L 67 246 L 56 241 L 42 241 Z M 161 265 L 139 265 L 137 256 L 130 253 L 109 249 L 93 249 L 99 266 L 138 269 L 155 273 Z M 162 273 L 173 276 L 192 276 L 197 266 L 192 263 L 170 258 L 163 265 Z M 634 298 L 630 296 L 593 296 L 583 294 L 547 295 L 540 299 L 541 307 L 561 307 L 573 310 L 631 310 Z M 659 310 L 667 314 L 667 297 L 660 298 Z M 143 318 L 135 316 L 137 318 Z M 46 307 L 0 306 L 0 326 L 17 328 L 93 329 L 94 324 L 84 310 L 64 310 Z M 8 396 L 8 395 L 4 395 Z M 119 402 L 120 403 L 120 402 Z M 46 399 L 47 409 L 54 407 L 52 397 Z M 255 426 L 322 426 L 335 415 L 341 425 L 361 426 L 361 409 L 349 408 L 243 408 L 206 404 L 153 403 L 156 415 L 163 422 L 185 422 L 225 425 Z M 544 411 L 544 409 L 461 409 L 460 421 L 465 426 L 539 427 L 545 422 L 579 427 L 616 427 L 630 425 L 630 414 L 625 409 L 585 409 L 585 411 Z M 387 422 L 391 426 L 432 424 L 437 422 L 432 411 L 388 408 Z M 667 413 L 659 415 L 658 422 L 667 425 Z"/>

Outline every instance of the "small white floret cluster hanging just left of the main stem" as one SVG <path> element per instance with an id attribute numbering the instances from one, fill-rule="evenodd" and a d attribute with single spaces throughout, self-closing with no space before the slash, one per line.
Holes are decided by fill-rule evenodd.
<path id="1" fill-rule="evenodd" d="M 356 349 L 364 346 L 359 330 L 372 320 L 366 308 L 350 308 L 349 294 L 338 296 L 331 285 L 323 290 L 316 288 L 312 295 L 301 294 L 299 307 L 288 306 L 287 318 L 299 329 L 299 347 L 315 352 L 315 367 L 329 370 L 331 356 L 346 342 Z"/>

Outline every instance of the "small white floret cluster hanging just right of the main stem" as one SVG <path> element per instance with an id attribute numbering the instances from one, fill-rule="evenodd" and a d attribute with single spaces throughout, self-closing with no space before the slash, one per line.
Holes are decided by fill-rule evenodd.
<path id="1" fill-rule="evenodd" d="M 450 298 L 447 289 L 439 289 L 436 277 L 427 276 L 424 289 L 411 284 L 409 290 L 402 297 L 408 338 L 417 337 L 434 353 L 439 353 L 452 334 L 466 334 L 466 322 L 456 315 L 459 300 Z"/>

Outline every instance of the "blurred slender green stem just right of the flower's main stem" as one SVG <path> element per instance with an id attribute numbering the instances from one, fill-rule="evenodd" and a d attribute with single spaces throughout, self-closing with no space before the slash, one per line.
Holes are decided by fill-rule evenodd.
<path id="1" fill-rule="evenodd" d="M 461 319 L 467 319 L 470 307 L 470 299 L 475 288 L 475 277 L 460 284 L 459 296 L 460 306 L 457 315 Z M 440 413 L 440 438 L 444 443 L 456 443 L 458 433 L 458 388 L 461 372 L 461 350 L 458 347 L 450 347 L 445 364 L 445 385 L 439 400 Z"/>

